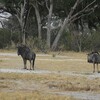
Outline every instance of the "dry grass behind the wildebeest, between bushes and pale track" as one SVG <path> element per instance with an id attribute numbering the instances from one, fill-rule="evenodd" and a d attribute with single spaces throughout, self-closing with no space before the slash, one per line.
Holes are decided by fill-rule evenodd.
<path id="1" fill-rule="evenodd" d="M 77 72 L 92 72 L 92 65 L 87 63 L 86 53 L 61 53 L 52 56 L 36 57 L 35 69 L 53 70 L 53 71 L 77 71 Z M 28 62 L 29 67 L 29 62 Z M 23 61 L 20 56 L 2 56 L 0 58 L 0 68 L 23 68 Z"/>

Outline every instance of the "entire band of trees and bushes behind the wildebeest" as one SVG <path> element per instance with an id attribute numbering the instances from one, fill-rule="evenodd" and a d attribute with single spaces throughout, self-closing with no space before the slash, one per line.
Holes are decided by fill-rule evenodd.
<path id="1" fill-rule="evenodd" d="M 100 49 L 100 0 L 0 0 L 0 13 L 0 48 Z"/>

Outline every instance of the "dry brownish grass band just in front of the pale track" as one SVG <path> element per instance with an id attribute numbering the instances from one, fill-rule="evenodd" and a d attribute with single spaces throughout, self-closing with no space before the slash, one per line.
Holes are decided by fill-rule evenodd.
<path id="1" fill-rule="evenodd" d="M 30 88 L 35 87 L 36 84 L 40 91 L 43 87 L 46 87 L 44 90 L 48 91 L 100 91 L 100 78 L 88 79 L 83 76 L 0 73 L 0 80 L 2 80 L 0 90 L 11 89 L 17 91 L 21 89 L 18 89 L 18 87 L 24 86 L 22 90 L 32 91 Z"/>

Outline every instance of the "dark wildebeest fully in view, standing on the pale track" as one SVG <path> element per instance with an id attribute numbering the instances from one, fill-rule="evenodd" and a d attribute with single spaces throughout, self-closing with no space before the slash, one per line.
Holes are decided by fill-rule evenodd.
<path id="1" fill-rule="evenodd" d="M 21 57 L 23 59 L 24 69 L 27 69 L 26 63 L 27 63 L 27 60 L 29 60 L 29 62 L 30 62 L 30 70 L 31 69 L 34 70 L 34 62 L 35 62 L 36 54 L 34 52 L 32 52 L 25 45 L 17 46 L 17 48 L 18 48 L 17 54 L 21 55 Z"/>

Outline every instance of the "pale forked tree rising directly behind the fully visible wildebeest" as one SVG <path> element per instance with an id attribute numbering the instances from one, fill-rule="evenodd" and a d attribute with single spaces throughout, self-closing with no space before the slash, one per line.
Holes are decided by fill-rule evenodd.
<path id="1" fill-rule="evenodd" d="M 4 4 L 6 8 L 3 10 L 11 13 L 12 16 L 16 16 L 18 19 L 22 33 L 22 43 L 25 44 L 25 30 L 29 13 L 29 0 L 4 0 Z"/>

